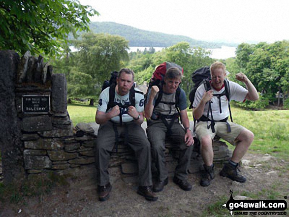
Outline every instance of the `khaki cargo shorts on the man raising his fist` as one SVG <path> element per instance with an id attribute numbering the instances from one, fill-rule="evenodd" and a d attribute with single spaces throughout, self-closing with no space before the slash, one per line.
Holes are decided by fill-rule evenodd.
<path id="1" fill-rule="evenodd" d="M 217 135 L 228 143 L 236 145 L 236 138 L 246 128 L 232 122 L 228 123 L 230 124 L 231 132 L 227 132 L 227 124 L 225 122 L 215 122 L 215 133 L 213 133 L 211 127 L 208 129 L 207 122 L 198 122 L 195 127 L 197 138 L 201 141 L 202 137 L 210 135 L 213 140 L 215 135 Z M 211 124 L 211 122 L 208 122 L 208 124 Z"/>

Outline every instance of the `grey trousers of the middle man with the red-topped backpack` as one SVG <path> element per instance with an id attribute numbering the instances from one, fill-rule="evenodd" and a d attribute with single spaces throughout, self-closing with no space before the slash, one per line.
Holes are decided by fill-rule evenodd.
<path id="1" fill-rule="evenodd" d="M 164 181 L 168 177 L 164 155 L 166 138 L 171 139 L 173 144 L 180 150 L 178 165 L 175 169 L 175 177 L 181 180 L 187 180 L 193 146 L 186 146 L 185 130 L 179 124 L 178 119 L 176 119 L 172 125 L 172 133 L 169 135 L 166 133 L 167 128 L 161 120 L 150 120 L 146 131 L 151 143 L 152 160 L 156 164 L 159 173 L 159 181 Z"/>

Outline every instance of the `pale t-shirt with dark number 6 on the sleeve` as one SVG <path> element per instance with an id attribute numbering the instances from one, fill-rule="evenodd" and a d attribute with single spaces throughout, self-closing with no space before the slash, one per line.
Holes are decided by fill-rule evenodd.
<path id="1" fill-rule="evenodd" d="M 134 89 L 136 91 L 140 91 L 137 88 L 134 88 Z M 99 99 L 98 99 L 97 110 L 99 110 L 101 112 L 106 112 L 108 101 L 109 101 L 109 87 L 104 89 L 100 93 Z M 128 94 L 123 95 L 123 96 L 121 96 L 115 92 L 114 101 L 118 104 L 120 103 L 122 105 L 125 105 L 125 104 L 129 105 L 130 104 L 129 103 L 129 92 L 128 92 Z M 133 118 L 128 115 L 127 108 L 120 108 L 120 109 L 121 109 L 120 112 L 122 114 L 123 123 L 130 122 L 133 120 Z M 135 109 L 137 112 L 143 112 L 143 110 L 144 110 L 144 96 L 141 93 L 135 93 Z M 110 110 L 111 110 L 111 108 L 108 110 L 108 112 Z M 120 117 L 119 116 L 113 117 L 111 120 L 113 122 L 120 123 Z"/>

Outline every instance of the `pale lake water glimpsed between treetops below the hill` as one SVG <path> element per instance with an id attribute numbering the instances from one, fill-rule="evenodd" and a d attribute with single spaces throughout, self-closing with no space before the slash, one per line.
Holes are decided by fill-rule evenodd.
<path id="1" fill-rule="evenodd" d="M 147 48 L 149 50 L 149 47 L 129 47 L 128 52 L 136 52 L 137 49 L 140 51 L 144 51 L 144 49 Z M 163 47 L 154 47 L 156 52 L 161 51 Z M 227 47 L 227 46 L 222 46 L 222 48 L 212 48 L 212 49 L 206 49 L 206 50 L 211 50 L 212 54 L 210 55 L 211 58 L 214 59 L 227 59 L 230 57 L 235 57 L 235 51 L 236 47 Z"/>

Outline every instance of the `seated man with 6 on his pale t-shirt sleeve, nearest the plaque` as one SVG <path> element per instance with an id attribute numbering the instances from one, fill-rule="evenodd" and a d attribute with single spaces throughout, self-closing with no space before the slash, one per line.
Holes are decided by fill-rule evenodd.
<path id="1" fill-rule="evenodd" d="M 123 68 L 118 73 L 117 85 L 110 86 L 99 95 L 96 123 L 100 124 L 96 140 L 96 169 L 98 177 L 98 197 L 105 201 L 112 186 L 109 182 L 109 152 L 117 145 L 119 137 L 125 139 L 138 160 L 139 187 L 137 193 L 147 200 L 156 201 L 152 191 L 151 148 L 140 126 L 143 123 L 144 96 L 133 89 L 134 73 Z M 113 88 L 114 90 L 110 90 Z M 133 93 L 131 93 L 133 89 Z M 110 102 L 110 94 L 113 100 Z M 133 95 L 132 95 L 133 94 Z M 111 96 L 111 97 L 112 97 Z"/>

